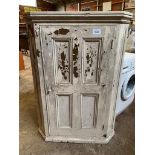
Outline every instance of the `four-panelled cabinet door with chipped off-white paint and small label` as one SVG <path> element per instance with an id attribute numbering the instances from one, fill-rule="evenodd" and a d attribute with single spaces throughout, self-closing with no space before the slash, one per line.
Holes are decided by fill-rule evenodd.
<path id="1" fill-rule="evenodd" d="M 50 136 L 103 136 L 117 31 L 100 24 L 40 26 Z"/>

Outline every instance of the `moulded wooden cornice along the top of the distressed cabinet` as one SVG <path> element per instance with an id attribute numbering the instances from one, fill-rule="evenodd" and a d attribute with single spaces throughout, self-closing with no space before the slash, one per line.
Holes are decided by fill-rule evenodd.
<path id="1" fill-rule="evenodd" d="M 126 11 L 41 11 L 27 14 L 27 22 L 34 23 L 130 23 L 132 13 Z"/>

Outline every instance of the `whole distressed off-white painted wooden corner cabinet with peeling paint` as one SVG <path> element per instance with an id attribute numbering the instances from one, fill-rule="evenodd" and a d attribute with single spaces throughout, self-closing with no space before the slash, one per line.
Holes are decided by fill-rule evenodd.
<path id="1" fill-rule="evenodd" d="M 128 12 L 27 15 L 39 131 L 46 141 L 107 143 Z"/>

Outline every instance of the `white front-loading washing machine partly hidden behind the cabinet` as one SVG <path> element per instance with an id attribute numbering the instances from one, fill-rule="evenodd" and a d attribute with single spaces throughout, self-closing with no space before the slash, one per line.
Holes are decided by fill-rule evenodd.
<path id="1" fill-rule="evenodd" d="M 125 53 L 116 100 L 116 116 L 134 100 L 135 95 L 135 54 Z"/>

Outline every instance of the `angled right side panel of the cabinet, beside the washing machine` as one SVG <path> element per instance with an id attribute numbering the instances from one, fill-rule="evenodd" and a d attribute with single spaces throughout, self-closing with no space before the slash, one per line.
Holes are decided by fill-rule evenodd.
<path id="1" fill-rule="evenodd" d="M 111 77 L 111 82 L 109 83 L 106 95 L 106 102 L 109 103 L 106 107 L 106 115 L 108 119 L 105 123 L 105 132 L 107 135 L 110 135 L 111 132 L 114 130 L 116 98 L 121 73 L 121 64 L 124 54 L 124 43 L 127 28 L 127 24 L 121 24 L 116 27 L 117 35 L 115 43 L 117 45 L 114 45 L 114 48 L 111 50 L 111 54 L 109 55 L 108 65 L 111 66 L 109 67 L 109 76 Z"/>

